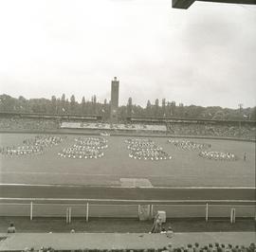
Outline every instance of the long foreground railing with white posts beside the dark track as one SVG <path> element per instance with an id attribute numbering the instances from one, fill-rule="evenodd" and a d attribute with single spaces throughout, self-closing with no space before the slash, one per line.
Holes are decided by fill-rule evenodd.
<path id="1" fill-rule="evenodd" d="M 0 216 L 63 217 L 71 223 L 73 217 L 152 219 L 159 210 L 166 218 L 236 217 L 256 220 L 254 200 L 116 200 L 62 198 L 0 198 Z"/>

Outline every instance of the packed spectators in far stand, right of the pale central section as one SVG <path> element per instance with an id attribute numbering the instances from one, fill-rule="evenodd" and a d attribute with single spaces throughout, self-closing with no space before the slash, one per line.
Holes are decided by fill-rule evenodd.
<path id="1" fill-rule="evenodd" d="M 228 126 L 197 123 L 168 123 L 167 131 L 172 135 L 206 135 L 221 137 L 242 137 L 255 139 L 256 127 Z"/>

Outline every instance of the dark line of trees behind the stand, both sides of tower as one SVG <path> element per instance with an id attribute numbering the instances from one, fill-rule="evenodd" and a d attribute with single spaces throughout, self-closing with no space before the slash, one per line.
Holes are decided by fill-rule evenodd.
<path id="1" fill-rule="evenodd" d="M 99 102 L 96 96 L 79 102 L 74 95 L 70 99 L 63 94 L 61 98 L 52 96 L 51 99 L 18 99 L 8 95 L 0 95 L 0 112 L 15 113 L 40 113 L 40 114 L 74 114 L 74 115 L 101 115 L 107 119 L 110 114 L 110 102 L 104 99 Z M 145 107 L 133 103 L 129 98 L 127 105 L 119 106 L 119 118 L 126 117 L 187 117 L 205 119 L 228 119 L 228 120 L 255 120 L 256 107 L 243 108 L 239 104 L 238 109 L 222 108 L 219 106 L 203 107 L 196 105 L 184 106 L 183 103 L 166 99 L 148 100 Z"/>

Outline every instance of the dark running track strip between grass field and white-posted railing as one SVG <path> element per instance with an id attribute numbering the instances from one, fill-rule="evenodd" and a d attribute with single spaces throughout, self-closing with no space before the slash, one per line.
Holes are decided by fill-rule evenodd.
<path id="1" fill-rule="evenodd" d="M 0 185 L 0 200 L 40 202 L 110 202 L 132 203 L 178 203 L 255 205 L 253 188 L 105 188 L 81 186 L 27 186 Z M 101 201 L 102 200 L 102 201 Z M 183 202 L 184 203 L 184 202 Z"/>

